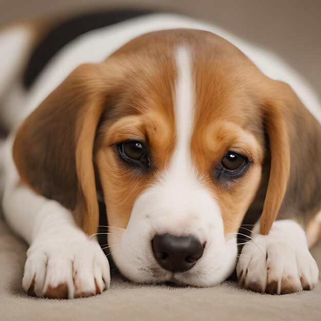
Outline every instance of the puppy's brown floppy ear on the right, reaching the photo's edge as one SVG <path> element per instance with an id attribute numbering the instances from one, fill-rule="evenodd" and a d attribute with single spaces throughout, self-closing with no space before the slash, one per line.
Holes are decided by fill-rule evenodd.
<path id="1" fill-rule="evenodd" d="M 271 167 L 260 223 L 267 235 L 274 220 L 313 211 L 321 184 L 321 127 L 285 83 L 272 81 L 264 104 Z M 304 222 L 302 222 L 304 223 Z"/>

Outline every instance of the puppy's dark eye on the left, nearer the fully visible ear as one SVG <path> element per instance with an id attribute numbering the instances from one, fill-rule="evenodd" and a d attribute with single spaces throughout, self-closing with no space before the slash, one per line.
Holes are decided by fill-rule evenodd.
<path id="1" fill-rule="evenodd" d="M 118 145 L 119 154 L 126 162 L 150 165 L 148 149 L 143 142 L 127 141 Z"/>

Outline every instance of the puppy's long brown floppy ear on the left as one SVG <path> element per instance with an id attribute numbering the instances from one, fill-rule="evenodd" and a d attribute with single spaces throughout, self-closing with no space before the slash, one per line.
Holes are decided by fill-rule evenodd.
<path id="1" fill-rule="evenodd" d="M 109 90 L 105 69 L 76 68 L 26 119 L 13 145 L 23 181 L 71 209 L 87 234 L 96 232 L 99 220 L 92 155 Z"/>

